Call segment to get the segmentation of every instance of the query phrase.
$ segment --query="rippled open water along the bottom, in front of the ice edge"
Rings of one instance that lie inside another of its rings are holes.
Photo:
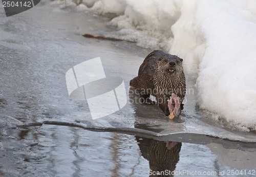
[[[222,143],[162,142],[56,125],[16,128],[1,138],[2,174],[149,176],[162,171],[169,176],[253,176],[245,173],[254,172],[255,144]]]

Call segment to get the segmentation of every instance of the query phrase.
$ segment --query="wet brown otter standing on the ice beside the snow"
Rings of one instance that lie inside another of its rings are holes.
[[[186,94],[186,79],[182,61],[183,59],[178,56],[160,50],[148,54],[140,65],[138,76],[130,81],[130,86],[139,91],[140,102],[154,104],[155,102],[150,100],[150,95],[155,96],[158,106],[163,110],[165,116],[168,116],[170,114],[168,100],[174,93],[181,100],[175,117],[179,116]],[[173,102],[175,104],[175,101]]]

